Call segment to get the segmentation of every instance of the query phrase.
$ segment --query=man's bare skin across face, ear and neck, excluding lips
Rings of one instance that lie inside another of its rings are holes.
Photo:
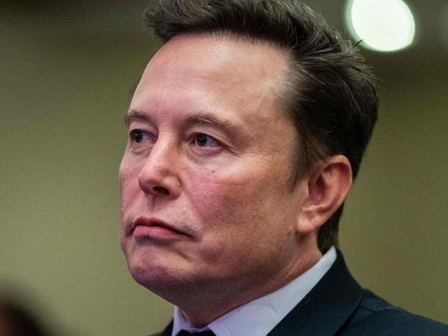
[[[121,248],[134,279],[194,326],[311,268],[318,227],[351,186],[335,156],[291,188],[297,132],[277,108],[286,68],[285,53],[262,43],[180,35],[130,103]],[[136,237],[138,217],[184,234]]]

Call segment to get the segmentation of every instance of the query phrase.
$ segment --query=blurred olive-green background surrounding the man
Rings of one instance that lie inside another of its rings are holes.
[[[391,303],[448,323],[448,1],[377,3],[386,13],[305,2],[364,39],[381,79],[342,218],[347,263]],[[146,1],[0,3],[0,300],[51,335],[160,330],[172,308],[131,279],[118,237],[124,112],[159,46],[142,23]]]

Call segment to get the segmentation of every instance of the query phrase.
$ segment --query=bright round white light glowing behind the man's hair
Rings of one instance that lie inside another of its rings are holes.
[[[395,51],[411,45],[416,24],[402,0],[351,0],[347,19],[362,46],[378,51]]]

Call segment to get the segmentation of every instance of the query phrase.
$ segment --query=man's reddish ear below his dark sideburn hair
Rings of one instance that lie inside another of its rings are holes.
[[[351,165],[344,155],[320,162],[304,179],[304,201],[298,218],[298,232],[318,230],[342,205],[352,183]]]

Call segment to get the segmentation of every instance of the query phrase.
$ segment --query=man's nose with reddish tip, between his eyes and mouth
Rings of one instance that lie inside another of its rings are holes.
[[[180,194],[178,168],[177,148],[159,137],[139,172],[139,186],[146,194],[175,199]]]

